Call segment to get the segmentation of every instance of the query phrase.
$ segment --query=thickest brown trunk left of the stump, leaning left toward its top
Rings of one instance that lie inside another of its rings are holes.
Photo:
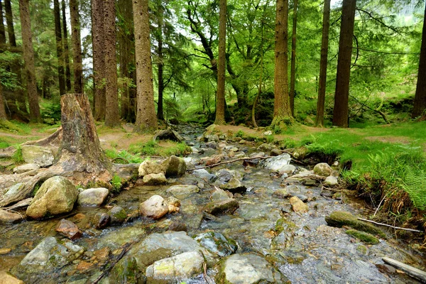
[[[37,85],[35,82],[35,65],[33,50],[33,35],[31,33],[30,6],[28,0],[19,0],[19,11],[21,16],[23,60],[25,61],[25,77],[30,104],[31,121],[39,122],[40,107],[38,105]]]

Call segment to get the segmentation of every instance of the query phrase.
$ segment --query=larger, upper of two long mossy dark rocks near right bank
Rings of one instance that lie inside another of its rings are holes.
[[[383,233],[381,229],[376,228],[376,226],[373,226],[372,224],[356,219],[356,217],[349,212],[334,211],[332,214],[325,217],[325,221],[329,226],[337,226],[339,228],[342,226],[351,226],[353,229],[365,231],[370,234],[376,234],[381,236],[383,239],[386,239],[386,234]]]

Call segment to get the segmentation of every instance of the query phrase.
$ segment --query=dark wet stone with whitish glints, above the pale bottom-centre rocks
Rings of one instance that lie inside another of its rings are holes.
[[[226,239],[224,235],[214,231],[200,234],[195,237],[195,240],[200,242],[200,245],[204,246],[209,252],[217,256],[229,256],[238,249],[233,239]]]

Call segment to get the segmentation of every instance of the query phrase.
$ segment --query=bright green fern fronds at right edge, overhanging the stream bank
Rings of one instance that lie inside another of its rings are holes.
[[[412,168],[407,167],[403,189],[410,195],[410,200],[417,209],[426,208],[426,175],[423,171],[415,172]]]

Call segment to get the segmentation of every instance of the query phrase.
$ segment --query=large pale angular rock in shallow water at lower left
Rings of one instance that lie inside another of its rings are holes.
[[[48,236],[15,267],[17,275],[52,272],[79,258],[83,252],[84,248],[71,241],[58,241],[53,236]]]

